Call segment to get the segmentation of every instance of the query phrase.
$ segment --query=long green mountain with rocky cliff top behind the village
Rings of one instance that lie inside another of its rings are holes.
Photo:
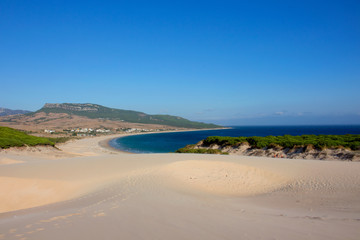
[[[219,128],[221,126],[202,122],[194,122],[171,115],[149,115],[143,112],[108,108],[91,103],[46,103],[40,110],[30,113],[67,113],[92,119],[107,119],[130,123],[160,124],[181,128]]]

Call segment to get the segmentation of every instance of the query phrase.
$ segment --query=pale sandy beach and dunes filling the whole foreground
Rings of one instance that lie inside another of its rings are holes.
[[[0,151],[0,239],[358,239],[360,163],[127,154],[85,138]]]

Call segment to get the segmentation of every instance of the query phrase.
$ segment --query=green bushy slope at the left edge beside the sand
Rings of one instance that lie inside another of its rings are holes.
[[[35,137],[19,130],[8,127],[0,127],[0,148],[22,147],[22,146],[50,145],[54,142],[48,138]]]

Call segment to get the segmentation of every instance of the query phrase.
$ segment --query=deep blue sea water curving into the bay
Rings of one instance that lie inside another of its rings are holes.
[[[168,153],[188,144],[195,144],[208,136],[282,136],[303,134],[360,134],[360,125],[336,126],[241,126],[231,129],[154,133],[133,135],[113,139],[110,145],[122,151],[132,153]]]

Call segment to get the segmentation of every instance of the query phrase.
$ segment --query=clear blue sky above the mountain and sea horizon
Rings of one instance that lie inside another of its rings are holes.
[[[359,1],[0,1],[0,107],[360,124]]]

